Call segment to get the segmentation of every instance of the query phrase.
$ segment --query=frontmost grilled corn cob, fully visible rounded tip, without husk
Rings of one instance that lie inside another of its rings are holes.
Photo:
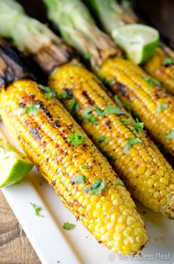
[[[47,98],[29,80],[13,82],[2,90],[0,102],[3,122],[75,217],[114,252],[140,251],[145,229],[129,192],[116,182],[119,178],[106,158],[61,103]],[[32,113],[28,111],[31,105],[35,105]],[[68,139],[74,135],[81,135],[81,144],[70,144]],[[75,182],[77,175],[85,176],[84,184]],[[84,193],[97,179],[103,186],[100,193]]]

